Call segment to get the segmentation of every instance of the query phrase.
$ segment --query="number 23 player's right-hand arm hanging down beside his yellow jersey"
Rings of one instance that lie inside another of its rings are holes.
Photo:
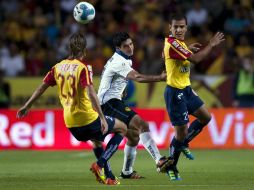
[[[108,132],[108,123],[104,117],[104,114],[101,110],[101,106],[97,97],[97,94],[94,90],[93,85],[87,86],[87,94],[92,102],[93,108],[97,111],[99,114],[100,120],[101,120],[101,132],[102,134],[106,134]]]

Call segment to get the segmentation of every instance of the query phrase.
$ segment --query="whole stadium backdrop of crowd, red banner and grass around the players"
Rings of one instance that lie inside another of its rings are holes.
[[[27,118],[17,120],[17,108],[47,70],[67,55],[68,37],[76,31],[87,35],[96,88],[113,52],[111,35],[119,30],[128,31],[134,39],[134,68],[145,74],[160,73],[167,18],[175,11],[189,18],[187,43],[205,45],[216,31],[226,34],[226,42],[191,70],[192,86],[210,108],[213,120],[191,143],[195,160],[181,156],[182,181],[173,183],[155,173],[150,155],[139,150],[135,170],[146,179],[121,180],[119,188],[253,190],[254,1],[87,1],[97,12],[85,26],[72,17],[76,0],[0,1],[0,189],[112,189],[98,184],[90,173],[95,159],[91,144],[80,144],[68,133],[55,88],[36,102]],[[165,112],[164,87],[164,83],[130,83],[127,101],[149,121],[162,155],[168,155],[174,129]],[[122,163],[120,150],[111,160],[115,175]]]

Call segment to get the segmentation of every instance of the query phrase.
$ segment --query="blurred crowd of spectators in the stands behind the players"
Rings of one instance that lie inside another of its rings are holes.
[[[87,0],[88,1],[88,0]],[[202,63],[193,75],[232,75],[251,72],[254,89],[253,0],[90,0],[95,20],[75,22],[77,0],[1,0],[0,68],[7,77],[44,75],[67,56],[69,36],[83,32],[88,41],[88,62],[99,75],[111,56],[111,36],[128,31],[134,39],[134,68],[146,74],[161,72],[164,38],[169,35],[172,12],[186,14],[188,43],[206,45],[216,31],[226,42]]]

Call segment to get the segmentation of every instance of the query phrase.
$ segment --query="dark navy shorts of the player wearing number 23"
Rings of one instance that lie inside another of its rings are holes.
[[[106,121],[108,123],[108,132],[103,135],[101,132],[101,120],[98,117],[94,122],[82,126],[82,127],[72,127],[69,128],[71,134],[78,140],[78,141],[88,141],[88,140],[97,140],[97,141],[104,141],[105,137],[112,133],[112,130],[115,125],[115,118],[110,116],[105,116]]]

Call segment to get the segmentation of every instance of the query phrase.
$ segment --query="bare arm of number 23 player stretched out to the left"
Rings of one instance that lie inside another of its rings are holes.
[[[42,83],[32,94],[32,96],[29,98],[29,100],[25,103],[23,107],[21,107],[17,112],[17,118],[25,117],[33,105],[33,103],[47,90],[49,87],[48,84]]]

